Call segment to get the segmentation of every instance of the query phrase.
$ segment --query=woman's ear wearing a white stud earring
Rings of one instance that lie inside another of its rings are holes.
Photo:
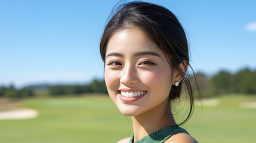
[[[184,75],[185,75],[188,66],[189,66],[189,63],[187,63],[186,60],[183,60],[178,67],[180,68],[181,72],[183,72]],[[180,83],[181,80],[183,79],[184,75],[182,75],[180,73],[180,71],[178,69],[176,69],[174,71],[174,78],[172,80],[172,85],[175,85],[175,82],[179,82]]]

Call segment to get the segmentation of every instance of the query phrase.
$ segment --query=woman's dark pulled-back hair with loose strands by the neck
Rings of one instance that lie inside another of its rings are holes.
[[[107,23],[101,37],[102,60],[105,62],[107,43],[116,32],[131,27],[141,29],[164,52],[169,66],[178,70],[183,76],[179,86],[172,86],[168,98],[169,102],[180,98],[183,82],[185,83],[190,97],[190,111],[186,119],[180,123],[182,125],[192,115],[194,107],[194,94],[189,81],[189,73],[184,73],[179,67],[182,63],[186,69],[186,63],[189,64],[189,48],[183,27],[171,11],[160,5],[135,1],[120,5],[118,9],[118,12]]]

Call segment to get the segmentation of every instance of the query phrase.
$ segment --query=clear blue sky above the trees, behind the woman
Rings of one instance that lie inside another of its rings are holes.
[[[0,85],[103,78],[99,43],[118,1],[0,0]],[[208,75],[256,69],[256,1],[147,1],[171,10]]]

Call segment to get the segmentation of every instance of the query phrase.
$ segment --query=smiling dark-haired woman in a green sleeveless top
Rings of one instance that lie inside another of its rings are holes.
[[[132,117],[134,134],[119,142],[197,142],[172,116],[170,102],[185,83],[189,119],[193,91],[186,34],[171,11],[147,2],[121,5],[104,29],[100,53],[110,98]]]

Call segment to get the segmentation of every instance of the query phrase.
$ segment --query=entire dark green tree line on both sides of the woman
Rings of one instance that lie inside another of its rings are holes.
[[[214,76],[208,77],[203,73],[196,73],[190,78],[192,89],[197,91],[196,81],[201,91],[202,97],[209,97],[224,94],[251,94],[256,95],[256,70],[242,69],[235,74],[221,70]],[[86,85],[32,85],[25,88],[16,89],[13,85],[0,87],[0,97],[8,98],[28,98],[34,97],[35,91],[44,87],[51,96],[76,95],[84,93],[104,93],[107,88],[104,80],[92,80]]]

